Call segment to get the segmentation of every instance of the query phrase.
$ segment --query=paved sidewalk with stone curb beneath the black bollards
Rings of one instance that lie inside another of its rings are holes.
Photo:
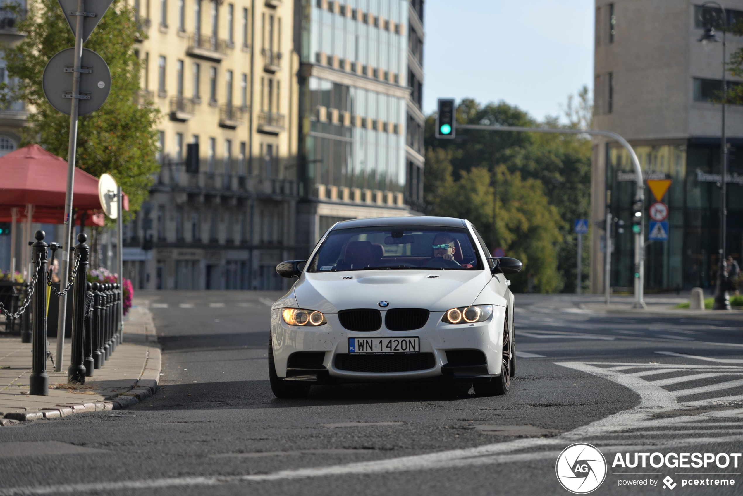
[[[79,389],[68,388],[67,367],[70,363],[70,340],[65,340],[62,372],[55,373],[47,361],[49,396],[30,396],[31,344],[17,336],[0,337],[0,425],[22,420],[53,419],[71,413],[94,410],[116,410],[134,405],[151,396],[160,379],[160,347],[157,344],[152,314],[146,300],[134,300],[124,322],[124,342],[85,379]],[[56,341],[49,350],[55,352]]]

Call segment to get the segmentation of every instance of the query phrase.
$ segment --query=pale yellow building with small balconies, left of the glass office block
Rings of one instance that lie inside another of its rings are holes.
[[[134,0],[142,103],[162,169],[126,226],[135,288],[279,289],[293,257],[296,72],[291,0]],[[150,249],[151,248],[151,249]]]

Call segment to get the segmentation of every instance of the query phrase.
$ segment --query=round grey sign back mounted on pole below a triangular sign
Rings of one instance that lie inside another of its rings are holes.
[[[51,106],[70,115],[72,94],[72,75],[74,74],[74,48],[65,48],[49,59],[42,87],[44,96]],[[88,48],[82,49],[80,57],[80,90],[77,99],[80,101],[78,115],[86,115],[100,109],[111,91],[111,71],[100,55]]]

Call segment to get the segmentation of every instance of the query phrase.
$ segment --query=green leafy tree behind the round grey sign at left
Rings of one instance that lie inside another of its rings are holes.
[[[10,77],[19,79],[7,97],[24,100],[31,109],[23,129],[23,143],[38,143],[67,158],[70,117],[47,102],[42,73],[48,60],[65,48],[74,47],[74,37],[56,0],[29,3],[19,30],[27,36],[19,45],[5,48]],[[134,22],[134,11],[122,0],[114,0],[85,48],[96,51],[111,70],[111,94],[96,112],[80,117],[77,131],[77,167],[98,177],[110,173],[129,196],[129,214],[139,210],[148,195],[155,160],[159,111],[140,107],[140,62],[134,53],[135,36],[142,37]]]

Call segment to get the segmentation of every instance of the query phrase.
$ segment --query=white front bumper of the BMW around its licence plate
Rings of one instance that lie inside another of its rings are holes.
[[[502,338],[505,307],[493,306],[493,315],[484,322],[442,323],[444,312],[431,312],[426,325],[415,331],[390,331],[382,325],[374,332],[354,332],[340,325],[337,314],[325,314],[328,323],[322,326],[290,326],[281,316],[281,309],[271,310],[271,339],[276,375],[280,378],[305,381],[369,382],[411,381],[420,379],[487,379],[501,371]],[[384,321],[385,311],[382,311]],[[351,372],[336,367],[336,356],[348,354],[348,338],[420,338],[420,352],[432,353],[433,366],[410,372]],[[487,365],[462,367],[450,364],[447,350],[480,350]],[[322,352],[322,366],[288,368],[294,352]]]

